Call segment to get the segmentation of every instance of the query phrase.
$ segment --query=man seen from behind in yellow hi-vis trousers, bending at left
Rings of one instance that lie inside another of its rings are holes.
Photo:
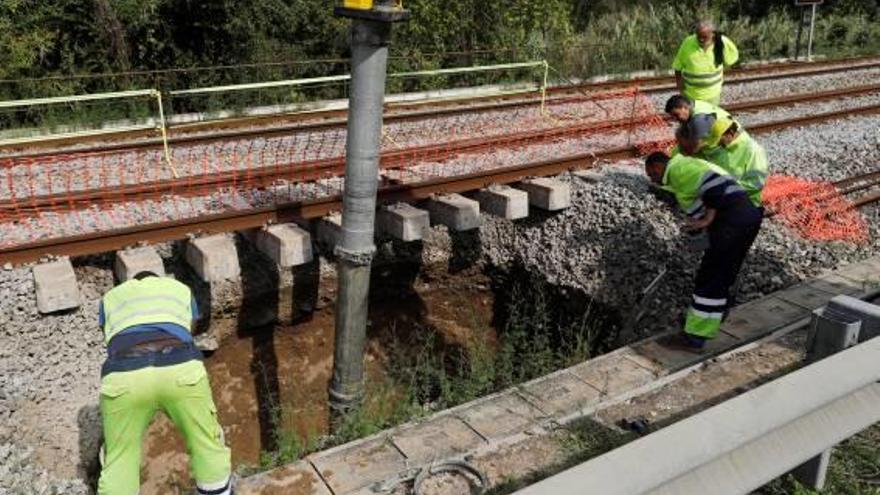
[[[138,273],[101,300],[109,356],[101,369],[99,495],[138,493],[141,443],[160,410],[183,434],[198,493],[233,493],[230,451],[191,335],[196,319],[189,287],[152,272]]]

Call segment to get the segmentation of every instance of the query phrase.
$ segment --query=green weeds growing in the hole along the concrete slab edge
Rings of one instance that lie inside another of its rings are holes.
[[[262,455],[261,467],[291,462],[303,455],[362,438],[383,429],[503,390],[589,359],[614,337],[609,315],[570,297],[534,276],[515,272],[501,278],[504,311],[496,332],[471,312],[470,333],[453,341],[432,327],[394,334],[388,350],[388,375],[368,382],[364,402],[331,437],[287,430],[283,404],[270,405],[277,450]],[[509,284],[509,285],[508,285]],[[393,363],[393,365],[391,364]]]

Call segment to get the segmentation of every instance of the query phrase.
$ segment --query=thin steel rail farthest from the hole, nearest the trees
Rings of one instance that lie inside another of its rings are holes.
[[[864,62],[864,63],[859,63]],[[791,70],[792,68],[804,68],[807,70]],[[764,66],[756,66],[738,69],[732,71],[729,74],[729,79],[726,84],[741,84],[748,82],[756,82],[756,81],[764,81],[769,79],[778,79],[785,77],[803,77],[803,76],[814,76],[814,75],[822,75],[834,72],[845,72],[849,70],[864,70],[870,68],[880,67],[880,60],[877,57],[860,57],[853,59],[843,59],[843,60],[835,60],[835,61],[823,61],[823,62],[810,62],[810,63],[781,63],[781,64],[769,64]],[[753,75],[754,74],[754,75]],[[639,86],[645,92],[661,92],[670,89],[675,89],[673,78],[670,76],[653,76],[653,77],[645,77],[645,78],[636,78],[636,79],[621,79],[621,80],[612,80],[612,81],[603,81],[603,82],[594,82],[594,83],[584,83],[573,86],[557,86],[551,87],[547,89],[548,95],[571,95],[571,94],[583,94],[585,92],[601,92],[608,91],[614,89],[623,89],[630,88],[633,86]],[[469,98],[467,100],[460,100],[458,102],[400,102],[400,103],[388,103],[386,104],[386,112],[389,114],[386,115],[386,122],[392,122],[395,120],[405,121],[408,119],[416,119],[422,118],[429,115],[443,115],[443,114],[465,114],[472,112],[483,112],[483,111],[491,111],[491,110],[502,110],[505,108],[511,107],[519,107],[519,106],[531,106],[531,105],[539,105],[540,101],[536,101],[534,97],[529,97],[523,99],[523,95],[531,94],[534,91],[528,93],[514,93],[514,94],[506,94],[506,95],[491,95],[491,96],[481,96]],[[490,101],[494,103],[482,104],[482,105],[474,105],[468,103],[479,103]],[[462,103],[465,106],[461,106]],[[445,106],[446,108],[436,108],[438,105]],[[452,106],[456,105],[456,106]],[[450,108],[451,107],[451,108]],[[401,112],[401,113],[393,113],[395,110],[403,110],[407,108],[415,108],[417,111],[410,112]],[[230,138],[239,138],[239,137],[267,137],[272,135],[285,134],[287,132],[291,132],[294,130],[299,130],[300,128],[307,128],[310,123],[314,123],[315,120],[318,119],[331,119],[335,120],[332,124],[337,126],[344,126],[345,117],[347,115],[346,109],[336,109],[336,110],[324,110],[324,111],[316,111],[316,112],[300,112],[293,114],[276,114],[276,115],[267,115],[267,116],[255,116],[255,117],[237,117],[232,119],[223,119],[218,121],[207,121],[207,122],[197,122],[197,123],[187,123],[187,124],[179,124],[179,125],[171,125],[169,126],[169,135],[171,138],[169,139],[169,143],[195,143],[195,142],[211,142],[214,140],[224,140]],[[312,121],[312,122],[310,122]],[[246,129],[239,130],[237,132],[226,132],[226,133],[214,133],[209,136],[173,136],[175,133],[196,133],[200,131],[210,131],[217,129],[229,129],[229,128],[238,128],[242,126],[257,126],[260,124],[267,123],[277,123],[277,122],[291,122],[293,125],[285,125],[285,126],[276,126],[272,129]],[[299,123],[299,125],[297,125]],[[303,125],[305,124],[305,125]],[[179,130],[179,131],[178,131]],[[106,137],[116,137],[118,139],[124,137],[144,137],[149,136],[151,133],[145,131],[123,131],[119,134],[104,134],[102,138]],[[216,136],[216,137],[214,137]],[[78,138],[59,138],[58,140],[46,140],[42,144],[45,144],[45,147],[51,146],[63,146],[63,145],[71,145],[71,144],[79,144],[86,142],[86,139],[78,139]],[[40,148],[43,146],[37,146],[40,143],[28,143],[31,149]],[[89,151],[89,152],[102,152],[102,151],[119,151],[119,150],[127,150],[127,149],[142,149],[142,148],[152,148],[158,147],[161,145],[161,141],[157,139],[148,139],[134,143],[118,143],[113,145],[105,145],[105,146],[96,146],[87,149],[80,149],[78,151]],[[0,151],[3,149],[20,149],[20,148],[11,148],[11,147],[2,147],[0,146]],[[57,153],[57,152],[56,152]],[[43,153],[34,153],[22,156],[41,156],[45,154],[54,154],[53,152],[43,152]]]

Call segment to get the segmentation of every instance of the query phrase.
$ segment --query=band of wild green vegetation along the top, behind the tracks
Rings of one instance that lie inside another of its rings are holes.
[[[664,69],[701,17],[719,21],[743,61],[792,56],[800,10],[790,0],[407,0],[390,71],[547,58],[557,74]],[[816,51],[880,52],[877,0],[829,0]],[[318,0],[0,0],[0,98],[173,89],[349,71],[347,21]],[[392,80],[389,90],[537,81],[536,71]],[[179,97],[169,113],[237,110],[345,97],[345,84]],[[0,125],[97,125],[155,116],[147,101],[55,106]]]

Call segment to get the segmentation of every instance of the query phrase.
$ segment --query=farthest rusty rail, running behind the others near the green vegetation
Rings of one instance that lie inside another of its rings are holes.
[[[878,67],[880,67],[880,59],[876,57],[860,57],[810,63],[789,62],[768,64],[731,71],[725,84],[735,85],[788,77],[817,76]],[[571,97],[573,95],[620,90],[631,88],[633,86],[638,86],[646,93],[657,93],[675,89],[675,81],[671,76],[611,80],[553,87],[548,89],[547,94],[551,101],[555,101],[558,98]],[[856,88],[852,88],[852,90],[855,91]],[[453,102],[402,102],[397,104],[386,104],[385,121],[386,123],[407,122],[416,119],[423,119],[425,117],[462,115],[538,105],[541,105],[541,99],[537,98],[533,91],[529,93],[471,97]],[[735,109],[734,107],[735,105],[732,105],[731,109]],[[346,125],[346,115],[347,110],[337,109],[180,124],[169,127],[169,144],[210,143],[249,137],[272,137],[298,131],[342,128]],[[279,125],[279,123],[283,124]],[[270,125],[271,127],[266,127]],[[210,134],[206,135],[205,133]],[[107,145],[79,147],[75,151],[100,153],[160,148],[163,145],[161,139],[140,139],[152,135],[155,135],[154,131],[140,130],[121,131],[119,133],[105,134],[102,136],[59,138],[55,140],[30,143],[18,148],[0,147],[0,153],[7,152],[7,156],[39,157],[57,153],[57,148],[59,146],[79,145],[107,139],[119,142]],[[130,141],[126,142],[125,140],[127,139]],[[41,149],[45,151],[15,152],[16,150]]]

